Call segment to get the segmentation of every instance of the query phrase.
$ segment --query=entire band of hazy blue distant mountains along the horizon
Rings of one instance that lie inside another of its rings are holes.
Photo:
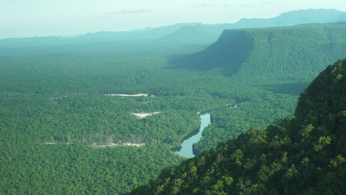
[[[244,18],[234,24],[225,23],[210,25],[201,23],[181,23],[170,26],[144,28],[132,31],[100,31],[69,38],[60,36],[6,38],[5,40],[0,40],[0,47],[151,40],[156,38],[159,38],[159,41],[165,42],[207,45],[217,41],[217,38],[224,29],[291,26],[305,23],[328,23],[340,21],[346,21],[346,12],[333,9],[309,9],[291,11],[268,19]]]

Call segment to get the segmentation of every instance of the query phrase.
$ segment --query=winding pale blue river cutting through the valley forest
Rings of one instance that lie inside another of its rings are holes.
[[[181,145],[181,149],[179,151],[176,151],[176,153],[181,155],[182,157],[193,158],[195,156],[192,152],[192,144],[197,143],[201,139],[204,128],[206,128],[211,123],[210,113],[202,113],[200,114],[200,118],[201,126],[199,128],[198,133],[184,140]]]

